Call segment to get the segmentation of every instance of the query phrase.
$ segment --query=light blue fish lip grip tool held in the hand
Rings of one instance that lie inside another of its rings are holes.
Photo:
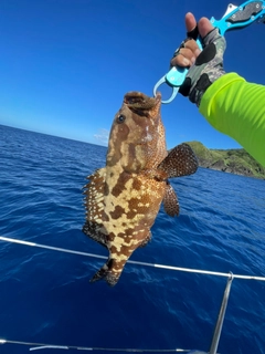
[[[245,28],[254,22],[265,23],[265,0],[254,1],[248,0],[236,7],[232,3],[229,4],[227,10],[221,20],[211,18],[210,20],[213,27],[218,28],[221,35],[224,35],[226,31],[237,30]],[[197,43],[202,49],[202,42],[200,37],[197,39]],[[172,87],[172,95],[169,100],[162,101],[162,103],[170,103],[177,96],[180,86],[182,85],[189,69],[173,66],[166,75],[163,75],[153,87],[153,96],[156,96],[158,87],[163,83]]]

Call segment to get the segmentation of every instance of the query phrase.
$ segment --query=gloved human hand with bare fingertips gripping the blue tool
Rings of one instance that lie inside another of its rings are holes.
[[[206,88],[225,72],[223,70],[223,53],[225,39],[220,35],[206,18],[198,23],[198,32],[201,38],[201,51],[197,42],[189,38],[197,28],[197,21],[192,13],[186,15],[188,39],[183,41],[171,60],[171,66],[190,66],[188,75],[179,92],[189,96],[198,106]]]

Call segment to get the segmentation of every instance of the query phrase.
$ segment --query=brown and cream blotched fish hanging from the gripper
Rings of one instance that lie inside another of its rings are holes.
[[[126,261],[151,238],[161,202],[170,216],[179,204],[168,178],[193,174],[197,158],[187,144],[167,152],[161,95],[129,92],[115,115],[106,167],[88,176],[83,231],[106,247],[109,258],[91,281],[115,285]]]

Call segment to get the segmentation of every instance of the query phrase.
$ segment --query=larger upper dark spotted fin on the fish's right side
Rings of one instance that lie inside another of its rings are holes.
[[[168,178],[189,176],[197,171],[198,159],[192,148],[188,144],[176,146],[158,166],[158,170],[163,170]]]

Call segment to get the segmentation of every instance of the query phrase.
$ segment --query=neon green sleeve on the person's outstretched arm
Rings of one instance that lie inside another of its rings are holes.
[[[199,111],[265,166],[265,86],[225,74],[206,90]]]

